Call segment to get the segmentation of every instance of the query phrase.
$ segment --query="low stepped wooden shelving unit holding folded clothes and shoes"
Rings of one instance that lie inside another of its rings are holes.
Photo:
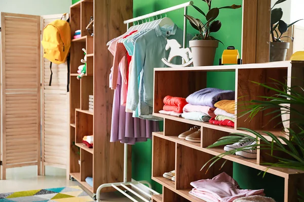
[[[193,188],[190,183],[200,179],[210,179],[222,172],[232,176],[233,162],[266,171],[280,176],[285,180],[284,201],[296,201],[297,190],[304,191],[304,171],[286,168],[268,168],[262,164],[274,161],[257,150],[257,159],[246,159],[240,156],[229,155],[215,163],[206,173],[206,168],[201,167],[214,156],[224,153],[223,146],[206,148],[218,138],[234,132],[250,133],[238,130],[238,128],[250,128],[256,131],[271,131],[277,136],[288,137],[283,132],[283,126],[276,124],[280,117],[274,122],[269,122],[272,116],[266,116],[268,112],[258,114],[252,121],[245,121],[245,117],[239,117],[235,122],[235,128],[212,125],[209,123],[186,120],[169,115],[159,114],[163,108],[163,99],[166,95],[187,97],[189,94],[206,87],[207,72],[231,71],[236,74],[236,102],[246,102],[258,99],[258,96],[273,95],[272,91],[265,91],[262,87],[250,81],[267,83],[270,78],[285,82],[288,86],[304,86],[304,63],[303,62],[279,62],[269,64],[249,64],[212,67],[189,67],[189,68],[157,68],[154,73],[154,115],[164,118],[164,132],[153,133],[153,163],[152,179],[163,185],[163,194],[154,201],[192,201],[203,202],[188,192]],[[233,82],[233,81],[232,81]],[[236,114],[240,113],[242,106],[238,106]],[[302,113],[304,109],[299,109]],[[290,116],[294,116],[290,114]],[[201,127],[201,142],[189,142],[178,138],[178,135],[190,127]],[[261,133],[263,134],[263,133]],[[264,134],[268,140],[271,138]],[[224,167],[219,170],[222,163]],[[175,170],[175,181],[163,177],[164,172]],[[275,185],[274,185],[275,186]],[[246,188],[246,187],[242,187]]]

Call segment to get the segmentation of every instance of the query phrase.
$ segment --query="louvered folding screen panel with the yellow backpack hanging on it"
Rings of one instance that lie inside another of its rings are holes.
[[[60,19],[62,15],[43,16],[43,27]],[[67,168],[69,162],[68,141],[68,94],[67,65],[52,64],[52,85],[50,81],[50,61],[43,58],[43,97],[42,97],[42,174],[45,166]],[[67,169],[68,170],[68,169]],[[69,175],[69,173],[68,173]]]

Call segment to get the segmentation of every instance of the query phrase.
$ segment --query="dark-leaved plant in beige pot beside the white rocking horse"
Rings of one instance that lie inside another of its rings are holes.
[[[208,5],[208,12],[205,13],[197,6],[192,5],[198,12],[204,16],[205,24],[197,18],[189,15],[185,17],[189,20],[191,26],[199,31],[195,37],[189,41],[189,46],[192,49],[194,66],[211,66],[214,62],[215,51],[220,40],[214,38],[210,34],[217,32],[221,28],[221,22],[215,20],[219,14],[220,9],[238,9],[241,5],[225,6],[220,8],[212,8],[212,0],[202,0]],[[221,42],[222,43],[222,42]]]

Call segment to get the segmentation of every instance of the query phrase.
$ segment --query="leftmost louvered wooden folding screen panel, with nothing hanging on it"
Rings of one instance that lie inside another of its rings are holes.
[[[40,175],[40,16],[1,14],[3,179],[37,165]]]

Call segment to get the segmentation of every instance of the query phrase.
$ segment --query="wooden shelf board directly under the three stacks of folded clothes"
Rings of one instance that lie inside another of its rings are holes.
[[[178,121],[178,122],[183,122],[183,123],[187,123],[187,124],[197,125],[197,126],[201,126],[201,127],[205,127],[205,128],[211,128],[211,129],[214,129],[214,130],[220,130],[220,131],[229,132],[229,133],[244,133],[244,134],[250,135],[252,137],[255,137],[252,133],[247,132],[247,131],[237,130],[237,129],[234,129],[232,127],[227,127],[227,126],[218,126],[218,125],[211,124],[209,122],[193,121],[193,120],[189,120],[189,119],[184,119],[182,117],[175,117],[175,116],[170,116],[170,115],[165,115],[165,114],[160,114],[160,113],[153,113],[153,115],[157,116],[157,117],[164,118],[164,119],[170,119],[170,120],[173,120],[173,121]],[[260,134],[263,135],[262,130],[255,130],[255,131],[259,132]],[[274,130],[274,131],[269,131],[269,132],[273,133],[275,136],[283,136],[283,137],[287,138],[286,133],[282,132],[281,130]],[[272,141],[272,138],[270,136],[268,136],[268,135],[263,135],[263,136],[267,140]],[[280,139],[280,141],[283,144],[286,144],[283,140]]]

